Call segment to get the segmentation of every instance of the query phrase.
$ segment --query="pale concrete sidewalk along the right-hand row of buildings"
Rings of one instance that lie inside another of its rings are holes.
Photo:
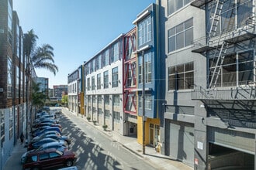
[[[77,114],[74,114],[70,111],[68,112],[73,114],[73,116],[78,117]],[[140,145],[137,142],[137,138],[123,136],[116,133],[115,131],[104,131],[102,126],[94,125],[93,122],[88,122],[85,117],[81,119],[84,120],[86,124],[90,124],[94,128],[97,128],[99,131],[101,131],[103,134],[108,135],[109,138],[112,138],[113,141],[119,142],[119,144],[123,145],[124,148],[128,149],[133,154],[140,156],[140,158],[144,158],[150,165],[152,165],[157,170],[192,170],[193,169],[188,165],[183,164],[182,162],[178,162],[178,161],[172,160],[168,156],[161,155],[160,153],[155,151],[153,147],[146,146],[145,155],[143,155],[142,145]]]

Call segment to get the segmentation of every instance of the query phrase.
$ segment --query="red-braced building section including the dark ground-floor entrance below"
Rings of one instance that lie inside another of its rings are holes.
[[[137,134],[137,29],[123,38],[123,113],[126,135]]]

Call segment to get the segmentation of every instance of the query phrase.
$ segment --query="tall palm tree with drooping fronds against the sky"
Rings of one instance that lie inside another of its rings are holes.
[[[26,63],[26,109],[29,108],[29,96],[33,97],[31,80],[33,70],[47,69],[56,75],[58,68],[54,64],[54,48],[49,44],[44,44],[41,47],[36,47],[36,40],[38,36],[34,33],[33,29],[29,30],[23,36],[23,52],[25,55]],[[32,113],[32,104],[30,102],[30,114]],[[28,113],[28,112],[27,112]],[[28,114],[26,114],[26,120],[29,121]],[[31,120],[30,120],[31,121]],[[26,138],[28,138],[28,127],[26,126]]]

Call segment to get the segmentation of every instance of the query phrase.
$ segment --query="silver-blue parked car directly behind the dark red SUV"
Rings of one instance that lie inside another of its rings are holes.
[[[46,144],[43,144],[42,146],[40,146],[39,148],[37,149],[33,149],[31,151],[26,151],[22,157],[21,157],[21,163],[24,164],[25,163],[25,158],[26,158],[26,155],[28,155],[29,153],[33,152],[33,151],[43,151],[43,150],[47,150],[47,149],[50,149],[50,148],[56,148],[58,151],[67,151],[68,148],[67,146],[65,145],[62,145],[60,142],[50,142],[50,143],[46,143]]]

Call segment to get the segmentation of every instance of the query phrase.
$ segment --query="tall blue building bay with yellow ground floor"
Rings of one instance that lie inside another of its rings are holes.
[[[157,5],[137,15],[137,138],[140,144],[157,145],[164,103],[164,56],[159,55]],[[162,82],[161,82],[162,81]],[[144,121],[144,122],[143,122]]]

